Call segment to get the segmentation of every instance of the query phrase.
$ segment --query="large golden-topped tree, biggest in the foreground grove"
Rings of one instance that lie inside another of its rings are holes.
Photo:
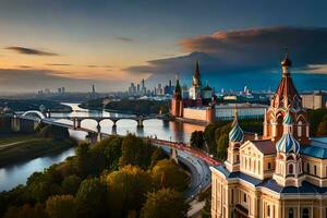
[[[109,186],[110,215],[126,217],[130,210],[140,210],[145,194],[150,191],[150,177],[135,166],[125,166],[105,177]]]

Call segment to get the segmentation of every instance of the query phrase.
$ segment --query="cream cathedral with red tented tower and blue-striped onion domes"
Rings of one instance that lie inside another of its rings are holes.
[[[225,165],[211,167],[211,217],[326,218],[327,144],[310,137],[288,55],[262,136],[249,136],[235,110]]]

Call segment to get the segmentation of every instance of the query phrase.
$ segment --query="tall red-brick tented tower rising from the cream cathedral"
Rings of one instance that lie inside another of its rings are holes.
[[[306,110],[302,107],[302,98],[291,77],[291,66],[292,62],[287,53],[283,61],[281,61],[281,81],[265,114],[263,137],[270,138],[275,143],[279,141],[283,135],[283,118],[289,112],[294,121],[293,137],[301,144],[307,144],[310,124],[307,122]]]

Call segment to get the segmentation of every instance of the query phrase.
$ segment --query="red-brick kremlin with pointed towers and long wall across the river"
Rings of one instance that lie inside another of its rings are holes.
[[[215,90],[206,84],[202,85],[198,62],[192,78],[192,86],[189,89],[187,98],[183,98],[179,80],[171,99],[170,113],[175,119],[211,123],[219,120],[232,120],[233,109],[239,109],[240,119],[264,118],[268,106],[259,104],[217,104]]]

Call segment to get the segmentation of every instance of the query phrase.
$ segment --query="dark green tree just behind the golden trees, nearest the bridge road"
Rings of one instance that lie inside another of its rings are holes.
[[[142,138],[128,134],[122,142],[122,156],[120,166],[140,166],[146,169],[150,165],[152,147]]]

